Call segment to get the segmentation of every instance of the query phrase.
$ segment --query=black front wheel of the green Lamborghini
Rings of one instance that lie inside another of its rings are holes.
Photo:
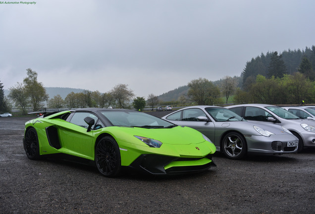
[[[106,177],[119,175],[121,168],[120,152],[112,137],[103,137],[95,148],[95,163]]]

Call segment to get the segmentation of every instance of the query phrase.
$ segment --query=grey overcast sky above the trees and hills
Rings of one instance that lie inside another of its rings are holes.
[[[35,2],[0,4],[4,89],[31,68],[45,87],[127,84],[147,98],[200,77],[240,76],[261,53],[315,45],[315,0]]]

